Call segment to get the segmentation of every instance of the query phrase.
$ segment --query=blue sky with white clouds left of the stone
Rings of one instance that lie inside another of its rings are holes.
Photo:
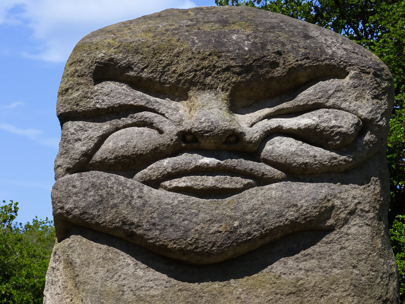
[[[214,0],[0,0],[0,202],[18,222],[52,218],[60,125],[56,97],[74,45],[98,28]]]

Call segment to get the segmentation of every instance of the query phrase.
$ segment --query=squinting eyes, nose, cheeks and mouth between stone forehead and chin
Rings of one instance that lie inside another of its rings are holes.
[[[238,108],[221,91],[195,90],[176,101],[102,82],[94,88],[100,102],[125,96],[134,104],[87,122],[87,130],[111,126],[98,131],[104,138],[88,168],[202,198],[229,197],[289,175],[343,171],[374,150],[361,147],[363,123],[351,108],[323,102],[343,83],[321,79]]]

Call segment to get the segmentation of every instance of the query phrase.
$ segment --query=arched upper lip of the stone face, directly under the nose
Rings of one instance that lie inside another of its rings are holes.
[[[234,153],[183,153],[179,156],[159,160],[138,172],[134,179],[147,184],[155,184],[178,175],[201,172],[228,172],[254,177],[264,183],[281,181],[286,177],[281,172],[264,163],[238,157]]]

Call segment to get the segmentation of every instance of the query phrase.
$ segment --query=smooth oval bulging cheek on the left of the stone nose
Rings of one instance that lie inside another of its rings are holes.
[[[144,127],[130,127],[111,134],[100,146],[89,166],[92,169],[124,170],[137,168],[167,153],[171,141],[165,133]]]

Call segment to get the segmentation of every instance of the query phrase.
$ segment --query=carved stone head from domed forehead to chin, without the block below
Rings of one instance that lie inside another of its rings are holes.
[[[344,224],[385,148],[389,73],[333,32],[235,10],[210,23],[216,10],[76,46],[58,99],[59,238],[70,223],[211,263]]]

